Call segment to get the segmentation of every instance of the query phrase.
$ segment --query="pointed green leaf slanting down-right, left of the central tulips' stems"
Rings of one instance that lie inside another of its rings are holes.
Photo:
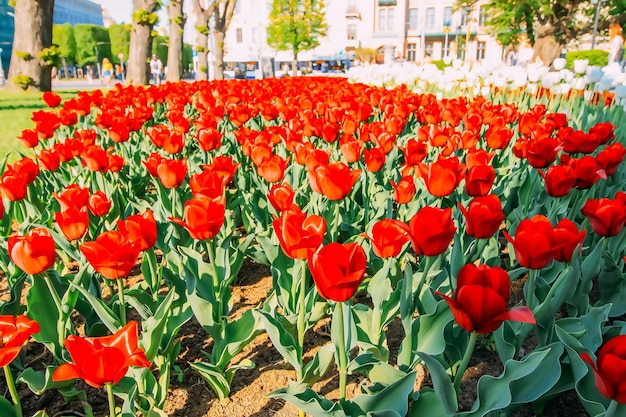
[[[298,371],[302,366],[302,346],[298,346],[296,342],[296,337],[293,334],[295,328],[285,326],[286,320],[276,311],[270,313],[255,309],[254,314],[260,317],[263,322],[263,327],[278,353],[280,353],[283,359],[289,362],[293,369]]]

